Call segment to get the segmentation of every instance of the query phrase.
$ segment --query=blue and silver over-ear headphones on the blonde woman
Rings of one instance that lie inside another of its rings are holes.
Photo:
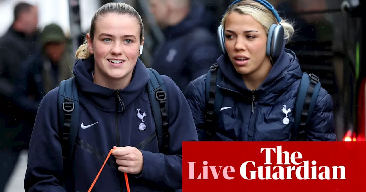
[[[242,0],[234,1],[234,3],[229,5],[229,7],[231,7],[232,5],[234,5],[240,1],[242,1]],[[282,47],[284,44],[284,29],[283,29],[283,26],[281,25],[281,18],[278,15],[275,8],[273,7],[273,5],[270,4],[268,1],[266,1],[266,0],[254,0],[254,1],[257,1],[258,3],[264,5],[266,8],[268,8],[268,10],[272,11],[273,15],[275,15],[275,17],[277,19],[278,23],[277,24],[273,23],[270,26],[269,31],[268,31],[266,54],[271,57],[278,57],[278,56],[280,56],[280,53],[282,51]],[[225,14],[226,14],[226,12],[225,12]],[[224,27],[222,25],[220,25],[219,28],[217,29],[217,38],[219,41],[219,46],[220,46],[221,51],[224,54],[227,54],[226,48],[225,48],[225,32],[224,32]]]

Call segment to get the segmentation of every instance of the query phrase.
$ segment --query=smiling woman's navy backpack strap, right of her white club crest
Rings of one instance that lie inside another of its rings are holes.
[[[150,75],[150,80],[147,83],[147,93],[149,95],[151,108],[153,111],[156,136],[159,144],[159,151],[167,155],[169,153],[169,125],[168,115],[165,109],[167,98],[167,87],[160,74],[155,69],[147,68]]]

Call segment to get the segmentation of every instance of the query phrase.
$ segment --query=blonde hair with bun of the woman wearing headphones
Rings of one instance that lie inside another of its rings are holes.
[[[231,7],[228,8],[225,13],[223,19],[221,20],[221,25],[225,28],[225,21],[228,15],[232,12],[237,12],[239,14],[251,15],[255,20],[262,24],[267,35],[269,31],[269,27],[273,23],[278,23],[273,12],[268,10],[264,5],[258,3],[254,0],[242,0]],[[288,20],[281,18],[281,25],[284,29],[284,39],[288,41],[291,40],[292,36],[295,33],[294,26]]]

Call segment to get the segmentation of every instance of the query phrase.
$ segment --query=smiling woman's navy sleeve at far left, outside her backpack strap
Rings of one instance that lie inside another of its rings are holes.
[[[58,87],[47,93],[37,112],[24,180],[26,192],[66,192],[60,186],[63,161],[57,134],[57,94]]]

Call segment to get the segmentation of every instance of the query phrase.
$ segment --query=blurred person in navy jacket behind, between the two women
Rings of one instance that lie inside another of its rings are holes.
[[[150,10],[165,35],[152,68],[172,78],[184,91],[221,55],[213,31],[214,16],[190,0],[150,0]]]

